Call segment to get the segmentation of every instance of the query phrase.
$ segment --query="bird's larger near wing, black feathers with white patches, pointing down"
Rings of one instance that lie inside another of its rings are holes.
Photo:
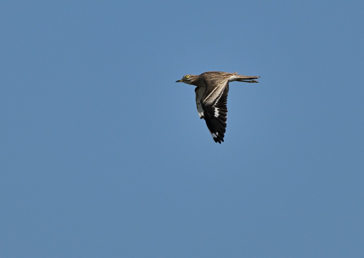
[[[207,128],[215,142],[221,144],[226,132],[227,93],[229,92],[229,79],[205,80],[206,90],[201,97],[201,108]],[[197,96],[197,94],[196,94]],[[198,105],[197,105],[198,109]]]

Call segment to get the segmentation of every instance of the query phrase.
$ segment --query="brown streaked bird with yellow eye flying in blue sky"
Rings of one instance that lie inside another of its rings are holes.
[[[196,86],[196,106],[200,119],[205,119],[207,129],[215,142],[221,144],[226,132],[227,93],[229,82],[258,82],[260,76],[246,76],[219,71],[205,72],[200,75],[186,74],[181,80]]]

